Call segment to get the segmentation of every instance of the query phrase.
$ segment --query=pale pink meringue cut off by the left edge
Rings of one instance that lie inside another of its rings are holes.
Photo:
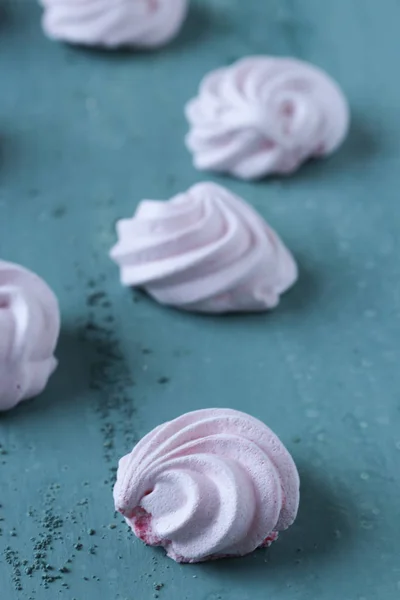
[[[0,410],[33,398],[57,366],[57,298],[37,275],[0,261]]]

